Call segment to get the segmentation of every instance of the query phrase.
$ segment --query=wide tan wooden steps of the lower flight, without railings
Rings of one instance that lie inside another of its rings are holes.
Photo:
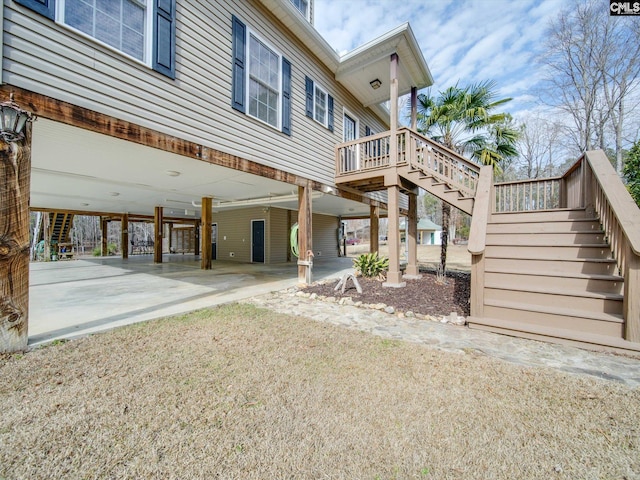
[[[468,322],[528,338],[629,348],[621,340],[623,292],[600,221],[584,208],[496,213],[487,225],[483,315]]]

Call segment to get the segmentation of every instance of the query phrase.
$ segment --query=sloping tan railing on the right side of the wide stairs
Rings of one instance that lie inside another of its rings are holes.
[[[602,150],[584,154],[579,175],[582,205],[599,217],[624,277],[625,339],[640,342],[640,209]]]

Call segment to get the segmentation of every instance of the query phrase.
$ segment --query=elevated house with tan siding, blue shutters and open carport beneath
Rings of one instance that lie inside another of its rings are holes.
[[[169,225],[191,232],[180,244],[203,268],[294,260],[296,222],[301,251],[338,256],[340,218],[386,205],[336,186],[336,146],[389,129],[392,55],[400,94],[432,83],[409,24],[341,57],[313,0],[9,0],[3,13],[2,93],[38,116],[32,210],[122,221],[123,237],[155,221],[157,262]]]

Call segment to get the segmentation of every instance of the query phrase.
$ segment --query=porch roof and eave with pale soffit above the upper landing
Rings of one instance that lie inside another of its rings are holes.
[[[399,95],[410,93],[412,86],[421,89],[433,84],[429,66],[409,23],[340,56],[290,0],[259,1],[335,74],[336,80],[364,107],[377,109],[379,104],[389,100],[389,64],[393,53],[399,59]],[[370,82],[375,79],[382,82],[380,88],[371,87]]]

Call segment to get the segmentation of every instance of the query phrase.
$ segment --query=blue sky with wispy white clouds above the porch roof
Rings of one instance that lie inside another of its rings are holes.
[[[495,80],[505,109],[536,109],[537,56],[548,22],[569,0],[315,0],[315,27],[346,53],[405,22],[422,47],[433,89]],[[608,15],[608,11],[603,11]]]

